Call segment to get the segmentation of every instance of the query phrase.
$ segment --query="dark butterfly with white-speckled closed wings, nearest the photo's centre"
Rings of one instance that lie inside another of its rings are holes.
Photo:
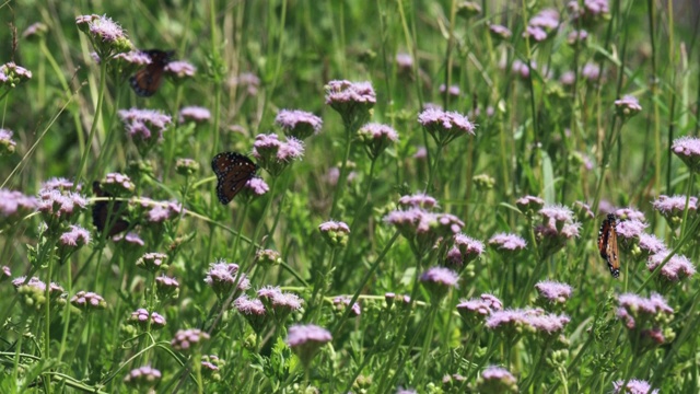
[[[245,154],[222,152],[212,159],[211,169],[217,175],[217,197],[226,205],[255,176],[258,166]]]

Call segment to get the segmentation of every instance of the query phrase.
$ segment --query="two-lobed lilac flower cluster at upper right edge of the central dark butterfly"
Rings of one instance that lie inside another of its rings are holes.
[[[253,143],[253,157],[258,165],[272,176],[278,176],[292,161],[304,155],[304,144],[295,138],[280,141],[277,135],[257,135]]]

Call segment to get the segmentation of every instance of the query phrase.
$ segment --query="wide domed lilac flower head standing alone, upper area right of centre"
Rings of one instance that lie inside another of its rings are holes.
[[[464,135],[474,136],[476,130],[476,125],[469,121],[466,116],[442,109],[428,108],[423,111],[418,115],[418,123],[440,147],[444,147]]]

